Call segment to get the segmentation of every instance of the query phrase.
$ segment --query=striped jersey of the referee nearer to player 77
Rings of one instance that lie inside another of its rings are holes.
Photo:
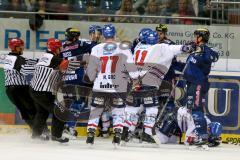
[[[35,65],[30,86],[35,91],[52,92],[53,85],[58,78],[58,70],[55,70],[62,59],[52,53],[44,53]]]

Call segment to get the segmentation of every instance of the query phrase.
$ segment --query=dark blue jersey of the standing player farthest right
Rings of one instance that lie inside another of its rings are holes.
[[[218,59],[218,53],[207,45],[199,47],[201,48],[200,52],[195,52],[187,58],[187,66],[183,76],[190,83],[208,86],[211,65]]]

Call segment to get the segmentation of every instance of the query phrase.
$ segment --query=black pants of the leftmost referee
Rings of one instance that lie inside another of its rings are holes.
[[[31,98],[28,85],[6,86],[6,94],[17,107],[21,117],[32,128],[36,107]]]

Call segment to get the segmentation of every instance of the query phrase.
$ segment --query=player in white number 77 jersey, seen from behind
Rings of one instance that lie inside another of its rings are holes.
[[[119,144],[124,125],[124,107],[128,80],[125,71],[130,77],[137,78],[137,68],[133,63],[129,48],[120,48],[115,41],[116,29],[113,25],[104,25],[104,43],[92,49],[87,75],[94,82],[91,113],[87,127],[87,144],[94,143],[95,131],[99,117],[105,106],[110,106],[113,117],[113,144]],[[122,46],[124,47],[124,46]]]

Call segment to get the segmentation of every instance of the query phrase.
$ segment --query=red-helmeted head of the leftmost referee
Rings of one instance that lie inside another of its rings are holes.
[[[8,47],[13,53],[23,54],[24,41],[20,38],[11,38],[8,41]]]

